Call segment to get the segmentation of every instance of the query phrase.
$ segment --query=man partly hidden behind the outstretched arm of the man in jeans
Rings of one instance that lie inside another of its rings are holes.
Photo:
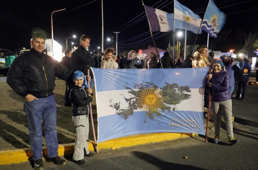
[[[71,70],[71,56],[72,56],[72,50],[70,49],[66,49],[64,51],[65,53],[65,56],[62,58],[62,61],[60,61],[60,64],[62,66],[65,66],[67,70]],[[64,100],[65,100],[65,106],[71,106],[71,102],[70,102],[70,98],[69,98],[69,92],[67,91],[68,88],[68,82],[65,81],[65,97],[64,97]]]

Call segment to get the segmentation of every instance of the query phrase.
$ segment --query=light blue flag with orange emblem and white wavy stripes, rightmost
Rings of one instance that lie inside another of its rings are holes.
[[[221,12],[212,0],[209,1],[201,29],[209,33],[210,37],[217,37],[226,22],[226,15]]]

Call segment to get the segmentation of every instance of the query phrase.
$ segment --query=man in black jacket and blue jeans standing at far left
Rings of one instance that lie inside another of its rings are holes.
[[[46,161],[65,165],[59,158],[56,132],[56,101],[54,97],[55,77],[66,80],[71,71],[43,53],[46,37],[34,32],[28,53],[16,57],[8,71],[7,83],[24,98],[24,111],[29,121],[29,141],[31,145],[34,169],[43,169],[41,118],[45,126],[45,138],[48,149]]]

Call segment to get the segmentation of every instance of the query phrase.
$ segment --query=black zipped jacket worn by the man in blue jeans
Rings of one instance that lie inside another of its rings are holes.
[[[56,77],[67,80],[71,74],[57,60],[30,49],[15,58],[7,74],[7,83],[22,97],[32,94],[43,98],[53,95]]]

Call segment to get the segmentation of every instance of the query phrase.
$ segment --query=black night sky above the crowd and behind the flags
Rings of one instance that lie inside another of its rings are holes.
[[[150,32],[148,32],[147,19],[144,18],[145,13],[141,0],[103,1],[104,49],[112,46],[112,43],[107,42],[107,37],[114,37],[114,40],[116,40],[116,36],[113,32],[121,32],[118,34],[118,47],[120,47],[121,50],[129,51],[133,49],[134,46],[151,41],[151,39],[148,38],[150,37]],[[178,0],[178,2],[187,6],[203,18],[209,0]],[[214,0],[214,2],[217,7],[221,8],[220,10],[226,14],[226,24],[222,32],[228,29],[243,29],[247,33],[250,31],[257,32],[258,3],[256,0]],[[2,3],[0,16],[0,49],[10,49],[12,51],[22,49],[23,47],[29,49],[29,41],[32,32],[38,29],[44,30],[47,38],[51,38],[51,13],[63,8],[66,8],[66,10],[53,14],[54,39],[63,46],[63,50],[66,49],[66,38],[71,37],[73,34],[77,37],[75,39],[68,39],[68,48],[71,48],[71,41],[79,43],[80,36],[86,34],[91,37],[89,50],[97,50],[97,46],[100,46],[101,49],[101,0],[26,0],[5,1]],[[87,3],[89,4],[85,5]],[[174,2],[172,2],[172,0],[144,0],[144,4],[148,6],[154,5],[154,8],[173,13]],[[132,24],[135,21],[139,22]],[[154,34],[156,33],[157,32],[154,32]],[[140,36],[141,34],[143,34],[142,37]],[[161,34],[162,33],[158,33],[156,36],[160,36]],[[136,36],[141,38],[135,39],[134,37]],[[187,36],[187,44],[193,44],[196,35],[188,31]],[[211,39],[212,38],[210,38],[210,40]],[[171,40],[172,44],[172,32],[161,36],[156,39],[155,42],[158,48],[166,49],[169,40]],[[135,44],[135,42],[138,41],[141,42]],[[182,41],[184,40],[182,39]],[[198,36],[197,43],[207,43],[206,32]]]

